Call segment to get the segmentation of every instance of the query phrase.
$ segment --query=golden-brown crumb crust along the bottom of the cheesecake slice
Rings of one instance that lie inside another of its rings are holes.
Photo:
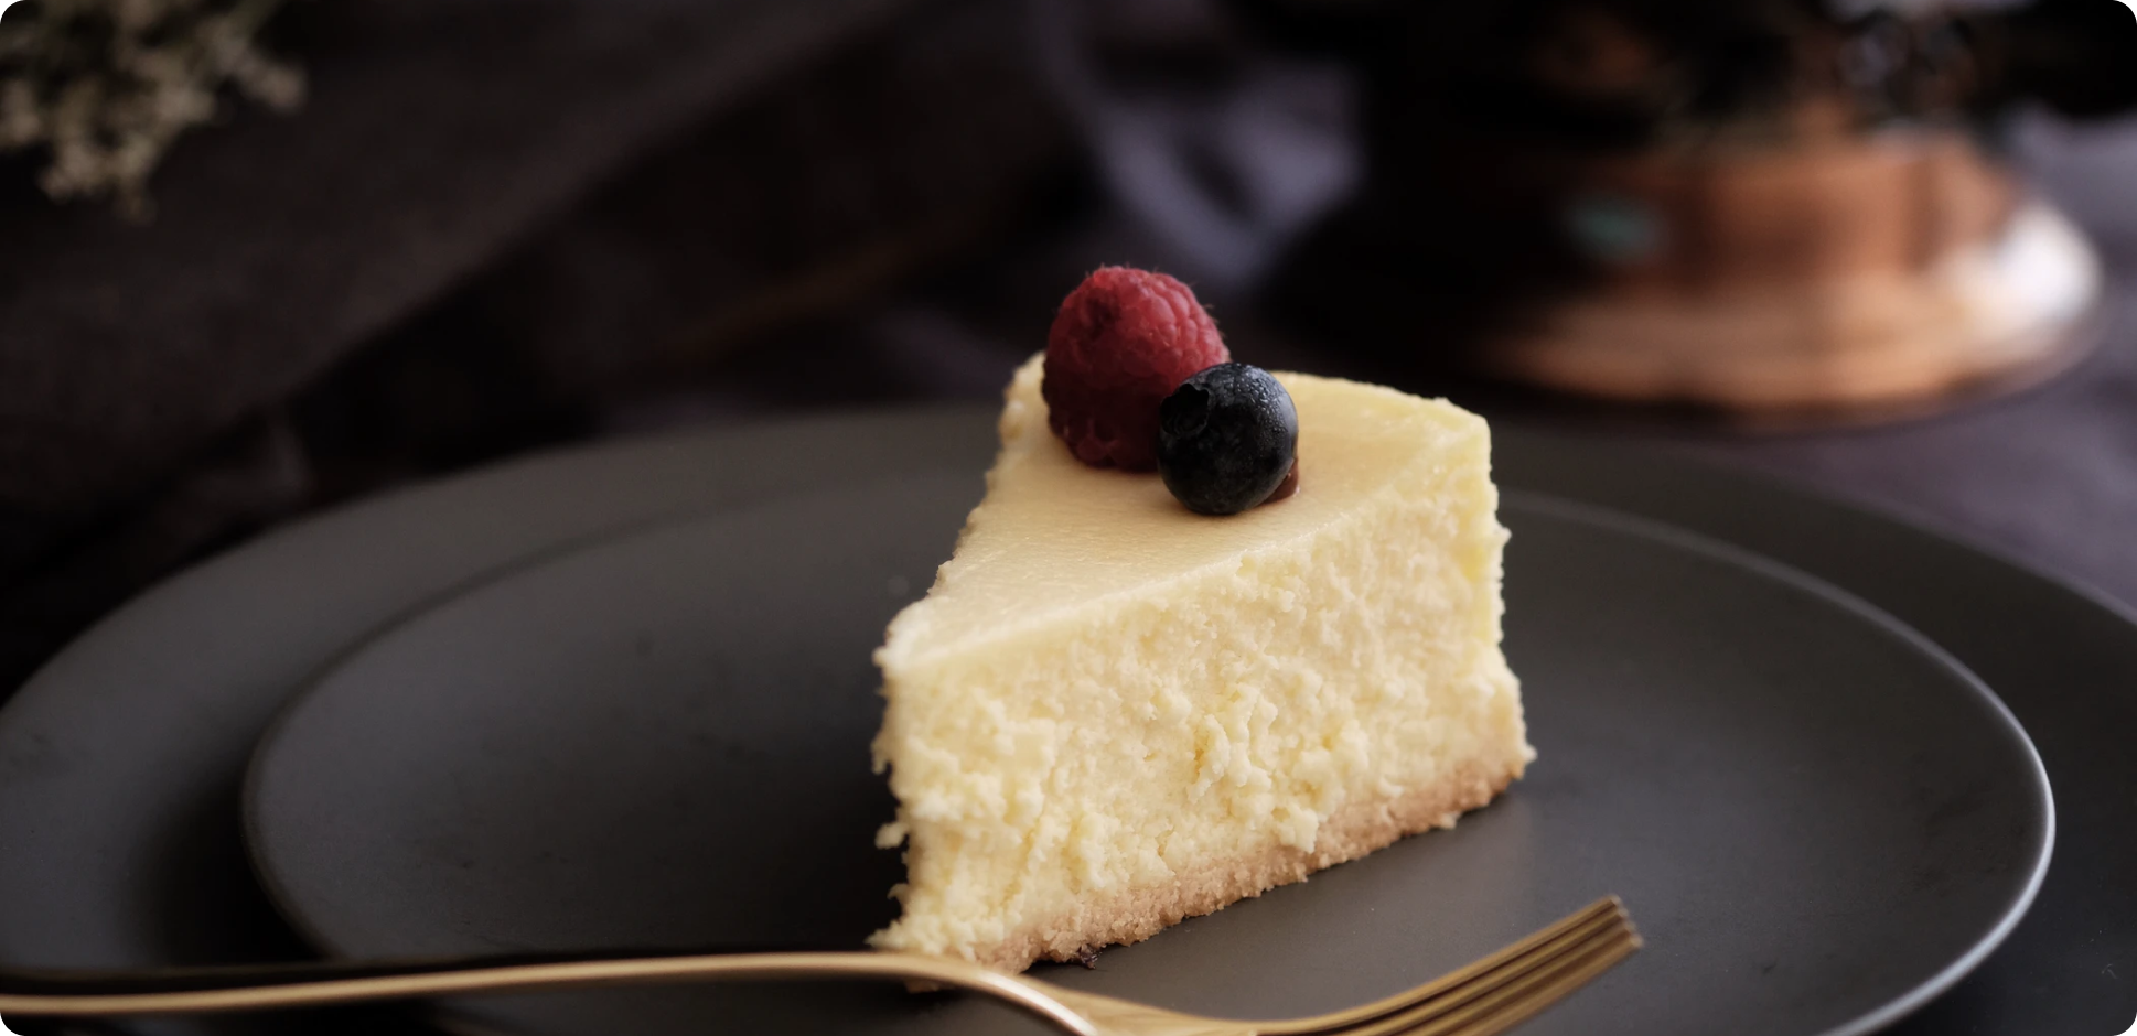
[[[1312,852],[1276,846],[1182,872],[1163,886],[1090,895],[1066,914],[1030,925],[994,946],[977,946],[974,959],[998,972],[1021,972],[1039,959],[1088,961],[1105,946],[1148,940],[1180,921],[1306,880],[1312,872],[1359,859],[1400,837],[1455,827],[1464,812],[1489,803],[1519,780],[1524,767],[1522,758],[1460,765],[1434,786],[1348,803],[1321,822]]]

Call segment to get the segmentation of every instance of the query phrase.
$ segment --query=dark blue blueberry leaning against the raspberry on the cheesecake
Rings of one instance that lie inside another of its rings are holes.
[[[1299,412],[1261,367],[1218,363],[1158,404],[1158,474],[1188,511],[1237,515],[1291,474]]]

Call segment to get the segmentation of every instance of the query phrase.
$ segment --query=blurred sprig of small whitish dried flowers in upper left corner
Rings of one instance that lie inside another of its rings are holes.
[[[254,45],[282,0],[19,0],[0,13],[0,152],[43,150],[53,199],[147,214],[171,143],[224,88],[288,111],[303,73]]]

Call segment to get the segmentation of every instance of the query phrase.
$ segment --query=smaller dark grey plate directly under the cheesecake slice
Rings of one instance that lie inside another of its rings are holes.
[[[889,921],[870,652],[970,478],[628,536],[440,605],[269,733],[248,833],[344,957],[804,940]],[[1868,1032],[2002,938],[2054,810],[2024,731],[1913,630],[1744,551],[1511,502],[1509,658],[1543,758],[1492,810],[1049,970],[1233,1017],[1387,995],[1603,893],[1650,948],[1528,1025]],[[494,1000],[534,1034],[1043,1032],[972,1002],[771,987]]]

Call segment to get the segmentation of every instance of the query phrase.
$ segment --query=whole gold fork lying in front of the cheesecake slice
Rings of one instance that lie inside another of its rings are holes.
[[[526,989],[769,978],[891,978],[1009,1002],[1075,1036],[1489,1036],[1639,948],[1607,897],[1468,968],[1351,1010],[1286,1021],[1182,1015],[910,953],[724,953],[547,963],[299,963],[167,972],[0,972],[0,1017],[201,1015]]]

